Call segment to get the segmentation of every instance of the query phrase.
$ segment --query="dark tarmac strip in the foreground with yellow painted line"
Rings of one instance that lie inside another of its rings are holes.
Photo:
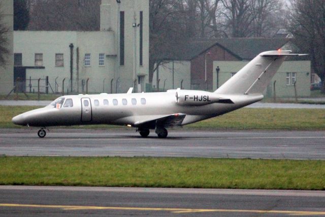
[[[1,216],[325,216],[323,191],[0,186]]]

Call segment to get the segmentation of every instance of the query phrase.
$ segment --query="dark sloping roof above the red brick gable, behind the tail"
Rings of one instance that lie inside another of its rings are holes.
[[[220,46],[240,60],[250,60],[263,51],[280,49],[287,42],[289,39],[285,38],[201,38],[176,48],[166,59],[191,60],[213,46]]]

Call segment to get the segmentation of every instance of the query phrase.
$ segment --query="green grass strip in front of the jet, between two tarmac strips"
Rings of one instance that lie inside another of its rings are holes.
[[[0,184],[325,190],[325,161],[2,157]]]

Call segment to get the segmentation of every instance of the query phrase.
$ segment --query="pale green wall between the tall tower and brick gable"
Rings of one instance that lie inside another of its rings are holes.
[[[182,88],[190,89],[190,61],[174,61],[174,89]],[[167,89],[173,89],[173,61],[164,66],[159,66],[159,90],[164,90],[164,81],[165,82],[165,91]],[[157,71],[153,74],[152,84],[154,90],[157,88]]]

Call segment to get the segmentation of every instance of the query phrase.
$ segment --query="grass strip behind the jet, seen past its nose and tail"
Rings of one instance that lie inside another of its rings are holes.
[[[0,128],[18,128],[13,116],[37,106],[0,106]],[[107,125],[83,128],[112,128]],[[115,127],[116,128],[116,127]],[[203,120],[184,127],[202,130],[325,130],[323,109],[242,108],[225,115]]]

